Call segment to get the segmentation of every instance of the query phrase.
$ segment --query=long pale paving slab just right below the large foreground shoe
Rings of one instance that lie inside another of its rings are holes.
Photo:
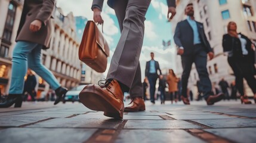
[[[183,120],[128,120],[125,129],[200,129]]]

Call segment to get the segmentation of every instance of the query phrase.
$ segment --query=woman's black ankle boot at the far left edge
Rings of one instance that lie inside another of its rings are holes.
[[[13,104],[15,104],[15,108],[21,107],[22,94],[9,94],[7,99],[4,102],[0,103],[0,108],[8,108],[11,107],[11,105]]]

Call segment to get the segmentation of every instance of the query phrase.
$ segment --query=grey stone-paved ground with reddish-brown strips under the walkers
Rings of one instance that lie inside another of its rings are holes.
[[[191,104],[146,101],[146,111],[125,113],[124,120],[114,120],[78,102],[55,106],[23,102],[21,108],[0,109],[0,141],[255,142],[255,104],[241,105],[239,100]]]

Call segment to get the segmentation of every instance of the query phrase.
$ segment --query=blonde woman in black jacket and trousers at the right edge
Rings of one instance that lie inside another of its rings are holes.
[[[253,48],[255,46],[251,40],[242,33],[238,33],[236,23],[230,21],[227,25],[227,34],[223,35],[223,51],[228,54],[227,61],[235,74],[236,88],[238,88],[241,103],[245,104],[251,104],[251,101],[245,95],[243,78],[254,93],[254,101],[256,102],[255,52]]]

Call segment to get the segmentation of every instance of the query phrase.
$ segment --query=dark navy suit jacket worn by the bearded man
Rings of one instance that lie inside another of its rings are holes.
[[[212,52],[212,48],[205,36],[205,30],[203,30],[203,24],[196,21],[198,26],[199,37],[201,39],[202,45],[205,48],[205,51]],[[180,21],[177,24],[174,34],[174,42],[178,47],[183,46],[184,54],[183,55],[190,55],[193,53],[193,46],[194,46],[194,35],[193,29],[190,26],[187,20]]]

